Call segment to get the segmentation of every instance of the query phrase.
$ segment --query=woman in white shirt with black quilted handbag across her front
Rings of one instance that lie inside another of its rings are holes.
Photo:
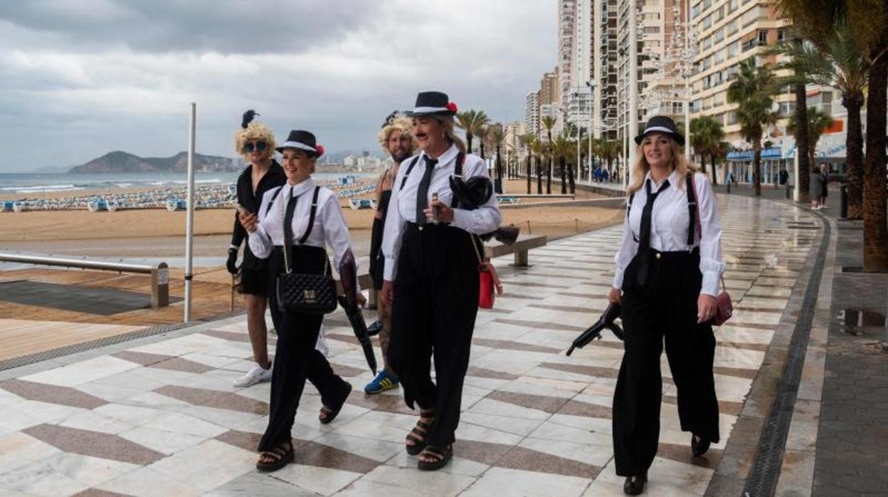
[[[293,460],[290,430],[306,379],[321,393],[319,420],[324,424],[333,421],[352,391],[352,385],[333,373],[327,358],[315,349],[323,315],[281,312],[278,307],[275,281],[284,271],[284,247],[292,250],[294,273],[323,273],[329,266],[325,244],[333,249],[340,274],[345,265],[355,265],[355,261],[336,194],[315,185],[311,178],[315,161],[323,155],[314,135],[290,132],[277,150],[287,183],[266,192],[257,214],[240,218],[250,233],[250,250],[257,257],[268,258],[268,303],[278,335],[268,428],[259,443],[261,455],[256,465],[266,471],[281,469]],[[291,227],[291,239],[286,241],[285,224]],[[356,267],[350,274],[357,275]],[[357,282],[353,288],[359,288]],[[353,298],[363,305],[360,292]]]

